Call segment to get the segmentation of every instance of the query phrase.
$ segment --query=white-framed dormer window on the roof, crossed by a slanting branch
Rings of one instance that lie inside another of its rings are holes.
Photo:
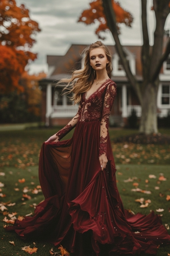
[[[136,73],[135,56],[132,53],[130,53],[127,49],[124,49],[124,51],[126,53],[126,59],[129,62],[130,69],[131,69],[133,75],[135,75],[135,73]],[[123,65],[122,65],[122,61],[119,58],[117,53],[114,54],[114,56],[113,56],[113,75],[114,76],[125,76],[126,75]]]

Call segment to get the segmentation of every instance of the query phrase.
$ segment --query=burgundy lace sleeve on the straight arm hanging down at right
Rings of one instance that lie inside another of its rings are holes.
[[[113,82],[107,86],[104,97],[103,111],[100,126],[99,156],[107,154],[108,119],[112,110],[113,101],[116,97],[116,84]]]

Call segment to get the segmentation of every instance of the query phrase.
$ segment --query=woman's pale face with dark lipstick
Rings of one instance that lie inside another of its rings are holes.
[[[90,66],[97,70],[106,69],[106,64],[109,62],[107,60],[105,51],[102,47],[94,48],[89,53]]]

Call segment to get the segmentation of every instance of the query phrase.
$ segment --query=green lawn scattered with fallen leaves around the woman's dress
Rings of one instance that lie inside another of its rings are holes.
[[[38,204],[44,199],[41,190],[37,194],[32,193],[35,188],[39,189],[37,187],[39,185],[39,151],[42,142],[56,131],[57,129],[33,129],[0,133],[0,182],[4,184],[1,187],[0,194],[6,195],[6,197],[0,198],[0,201],[16,203],[13,206],[7,206],[7,212],[17,212],[19,215],[30,214],[34,212],[34,204]],[[114,138],[131,135],[135,132],[137,131],[110,129],[110,136],[113,141]],[[162,130],[161,132],[164,134],[170,133],[169,130]],[[71,134],[67,135],[65,139],[70,136]],[[112,143],[112,147],[117,167],[117,184],[124,208],[143,214],[162,208],[164,209],[162,213],[163,224],[169,224],[170,226],[170,201],[166,200],[166,196],[170,195],[169,145],[149,146],[133,143]],[[126,159],[130,159],[130,161]],[[166,181],[159,181],[160,173],[164,174],[167,178]],[[154,174],[156,178],[150,179],[149,174]],[[133,178],[133,182],[124,182],[129,177]],[[25,182],[20,183],[19,180],[23,178]],[[151,191],[151,194],[132,191],[135,188],[133,186],[134,182],[139,184],[140,189]],[[159,187],[159,189],[155,189],[155,187]],[[31,198],[23,198],[23,194],[27,194]],[[151,203],[147,208],[140,208],[140,203],[135,201],[138,198],[150,199]],[[1,221],[3,218],[4,215],[1,211]],[[57,251],[52,244],[43,243],[38,239],[37,241],[23,241],[15,233],[6,232],[3,225],[0,225],[0,239],[0,256],[27,255],[26,252],[21,250],[21,247],[30,245],[33,248],[33,242],[36,243],[38,248],[37,256],[49,256],[52,247],[54,252]],[[10,244],[9,241],[14,241],[15,246]],[[170,253],[170,246],[164,246],[158,249],[157,256],[165,256],[168,253]]]

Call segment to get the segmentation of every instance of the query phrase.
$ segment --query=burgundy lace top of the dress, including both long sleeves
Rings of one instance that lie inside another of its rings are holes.
[[[99,156],[106,154],[108,119],[116,97],[116,84],[107,79],[94,93],[87,98],[87,93],[82,94],[78,113],[60,131],[56,133],[59,140],[62,139],[77,122],[100,121],[100,145]]]

